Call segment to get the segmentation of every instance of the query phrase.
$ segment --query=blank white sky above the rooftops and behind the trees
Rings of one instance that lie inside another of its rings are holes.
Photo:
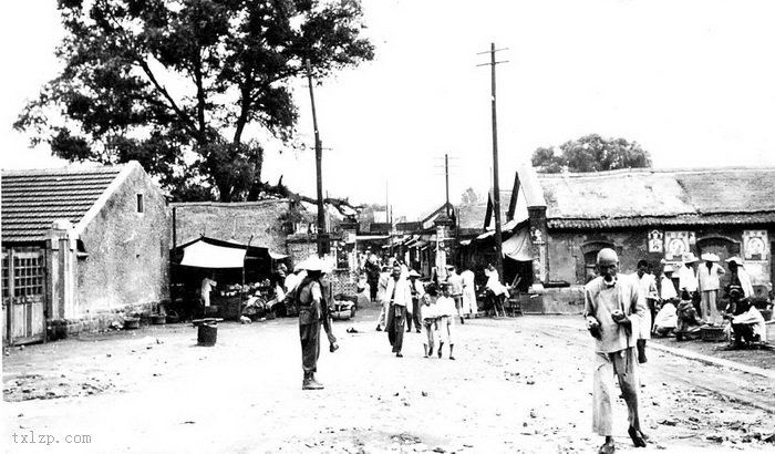
[[[394,216],[431,211],[493,167],[490,43],[498,61],[499,184],[540,146],[597,133],[638,142],[654,167],[775,166],[775,4],[732,0],[363,0],[375,58],[320,81],[316,107],[323,189],[389,203]],[[0,163],[62,166],[28,148],[11,124],[61,65],[54,0],[0,7]],[[298,140],[271,144],[262,179],[314,196],[306,82]]]

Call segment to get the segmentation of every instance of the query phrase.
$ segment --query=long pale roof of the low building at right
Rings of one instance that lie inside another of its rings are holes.
[[[775,168],[539,174],[549,228],[767,224]]]

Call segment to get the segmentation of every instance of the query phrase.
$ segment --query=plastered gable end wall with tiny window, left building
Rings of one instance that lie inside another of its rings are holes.
[[[143,196],[138,209],[137,196]],[[66,320],[89,319],[127,306],[169,298],[169,219],[164,194],[142,172],[132,172],[80,236],[76,295]]]

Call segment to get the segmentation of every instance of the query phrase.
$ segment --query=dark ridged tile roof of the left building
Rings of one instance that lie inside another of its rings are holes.
[[[76,225],[123,166],[2,172],[2,241],[41,241],[56,219]]]

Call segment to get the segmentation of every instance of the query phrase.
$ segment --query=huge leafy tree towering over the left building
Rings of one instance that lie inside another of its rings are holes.
[[[269,187],[255,137],[292,142],[290,83],[304,59],[319,80],[373,58],[359,0],[59,0],[59,10],[64,69],[14,127],[70,161],[137,159],[177,199],[255,199]]]

